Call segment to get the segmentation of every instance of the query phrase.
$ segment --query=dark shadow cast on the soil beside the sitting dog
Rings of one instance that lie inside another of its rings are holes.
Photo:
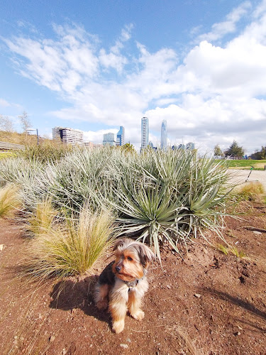
[[[57,283],[52,288],[49,307],[73,312],[80,309],[85,315],[95,317],[97,320],[111,324],[111,317],[106,310],[98,310],[94,305],[93,292],[98,276],[90,276],[84,280],[66,280]]]

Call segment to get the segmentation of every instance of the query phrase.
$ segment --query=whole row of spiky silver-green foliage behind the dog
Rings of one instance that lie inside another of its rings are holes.
[[[219,233],[229,204],[226,168],[196,151],[138,155],[104,147],[74,150],[57,163],[11,159],[0,165],[1,181],[21,185],[28,209],[47,197],[64,214],[78,213],[84,200],[94,210],[111,208],[121,234],[148,241],[159,258],[165,239],[177,250],[180,239],[204,228]]]

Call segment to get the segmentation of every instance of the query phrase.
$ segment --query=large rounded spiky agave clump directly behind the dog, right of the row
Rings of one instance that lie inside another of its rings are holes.
[[[117,221],[124,234],[148,239],[160,260],[160,241],[174,250],[204,228],[219,233],[228,204],[226,168],[189,151],[147,151],[140,162],[126,165],[115,188]]]

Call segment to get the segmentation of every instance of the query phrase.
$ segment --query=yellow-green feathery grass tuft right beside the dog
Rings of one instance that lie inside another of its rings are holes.
[[[87,273],[113,240],[113,217],[108,211],[92,212],[87,205],[78,219],[42,224],[29,241],[23,275],[32,280],[58,279]]]

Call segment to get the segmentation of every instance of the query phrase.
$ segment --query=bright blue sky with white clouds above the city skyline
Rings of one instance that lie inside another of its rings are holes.
[[[266,145],[266,0],[2,0],[0,114],[101,143]],[[33,132],[34,133],[34,132]]]

